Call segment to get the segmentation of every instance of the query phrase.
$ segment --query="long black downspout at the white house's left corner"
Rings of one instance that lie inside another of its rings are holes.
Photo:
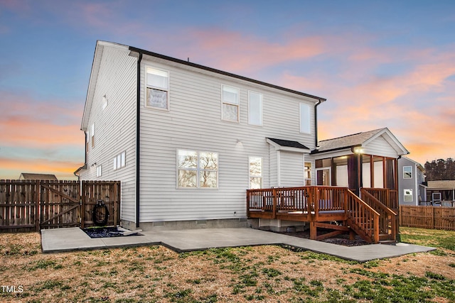
[[[136,87],[136,228],[139,228],[140,207],[140,172],[141,172],[141,61],[142,53],[139,52],[137,60],[137,87]]]

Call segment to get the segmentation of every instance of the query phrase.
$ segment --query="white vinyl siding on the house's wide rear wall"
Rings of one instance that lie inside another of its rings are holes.
[[[149,66],[169,72],[171,110],[151,111],[141,106],[141,222],[245,219],[250,156],[263,159],[262,187],[277,186],[277,176],[270,172],[277,171],[277,151],[273,152],[272,163],[266,137],[299,141],[314,149],[314,136],[299,133],[296,109],[301,102],[313,109],[317,100],[147,56],[142,62],[143,98],[144,74]],[[237,92],[234,100],[238,101],[232,102],[238,104],[236,123],[220,119],[223,87]],[[250,125],[248,106],[241,106],[248,104],[250,91],[263,94],[262,127]],[[141,101],[144,104],[145,100]],[[311,132],[314,133],[313,128]],[[178,188],[178,150],[218,153],[217,189]],[[299,164],[301,169],[294,172],[299,184],[303,184],[301,155]]]

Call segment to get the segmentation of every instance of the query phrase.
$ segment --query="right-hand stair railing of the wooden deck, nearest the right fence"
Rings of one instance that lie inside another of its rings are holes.
[[[373,194],[365,189],[361,189],[362,200],[370,205],[380,214],[379,228],[380,233],[387,235],[388,240],[395,241],[398,233],[398,216],[395,211],[382,204]]]

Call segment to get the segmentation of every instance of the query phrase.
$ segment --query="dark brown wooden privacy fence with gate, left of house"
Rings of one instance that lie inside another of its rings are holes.
[[[0,232],[93,226],[97,202],[119,224],[119,181],[0,180]]]

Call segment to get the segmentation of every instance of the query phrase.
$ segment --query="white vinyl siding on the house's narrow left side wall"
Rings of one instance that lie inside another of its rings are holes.
[[[80,171],[80,179],[96,180],[97,167],[92,165],[102,165],[99,178],[121,181],[121,219],[134,222],[137,58],[129,53],[128,48],[98,46],[93,65],[100,65],[100,71],[96,77],[91,76],[96,83],[90,83],[92,104],[88,108],[90,116],[85,117],[87,145],[91,145],[90,128],[94,124],[96,147],[87,153],[87,170]],[[109,106],[104,106],[103,97],[109,100]],[[131,165],[114,170],[112,160],[123,151]]]

